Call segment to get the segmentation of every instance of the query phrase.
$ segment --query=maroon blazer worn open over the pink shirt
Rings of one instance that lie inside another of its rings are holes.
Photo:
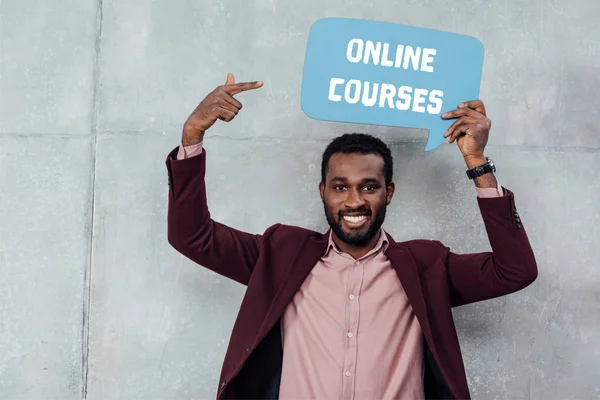
[[[211,218],[206,150],[176,160],[169,173],[168,241],[179,253],[245,285],[223,362],[217,399],[277,398],[282,365],[281,317],[325,253],[327,233],[275,224],[250,234]],[[386,255],[424,337],[427,398],[470,398],[452,307],[516,292],[537,277],[537,264],[514,194],[477,198],[492,252],[456,254],[435,240],[395,242]],[[236,194],[237,195],[237,194]]]

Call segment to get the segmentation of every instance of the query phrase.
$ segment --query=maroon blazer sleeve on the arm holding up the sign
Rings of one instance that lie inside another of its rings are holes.
[[[538,275],[537,263],[514,193],[478,198],[491,252],[456,254],[443,247],[452,307],[514,293]]]

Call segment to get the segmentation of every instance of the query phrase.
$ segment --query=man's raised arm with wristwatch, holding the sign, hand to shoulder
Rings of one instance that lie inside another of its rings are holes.
[[[481,100],[462,103],[442,115],[457,118],[444,134],[457,143],[467,169],[488,163],[484,155],[491,121]],[[489,168],[489,167],[488,167]],[[515,206],[514,193],[502,187],[493,171],[473,177],[477,202],[483,217],[491,252],[456,254],[445,251],[445,264],[452,306],[507,295],[530,285],[538,274],[537,263],[523,222]]]

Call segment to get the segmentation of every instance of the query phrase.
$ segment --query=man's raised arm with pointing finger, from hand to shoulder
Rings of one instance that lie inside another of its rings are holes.
[[[179,253],[220,275],[247,285],[260,246],[270,234],[250,234],[211,218],[206,199],[204,133],[217,119],[229,122],[241,109],[233,95],[262,82],[234,83],[231,74],[192,112],[181,145],[167,157],[169,172],[168,241]]]

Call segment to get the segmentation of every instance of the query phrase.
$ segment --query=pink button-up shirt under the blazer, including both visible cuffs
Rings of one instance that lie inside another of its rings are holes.
[[[202,143],[179,147],[178,159]],[[479,197],[502,188],[476,188]],[[332,236],[283,315],[280,399],[423,399],[421,327],[385,256],[375,247],[354,259]]]

